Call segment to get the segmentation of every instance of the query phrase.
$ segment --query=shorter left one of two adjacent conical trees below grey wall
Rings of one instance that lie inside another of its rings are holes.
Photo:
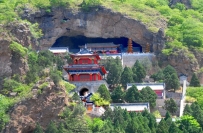
[[[127,83],[133,82],[133,72],[129,67],[125,67],[121,74],[121,84],[126,88]]]

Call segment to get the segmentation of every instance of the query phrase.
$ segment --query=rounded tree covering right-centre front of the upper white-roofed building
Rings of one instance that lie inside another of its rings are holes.
[[[140,93],[142,96],[142,102],[149,102],[151,108],[156,106],[157,95],[149,86],[143,88]]]

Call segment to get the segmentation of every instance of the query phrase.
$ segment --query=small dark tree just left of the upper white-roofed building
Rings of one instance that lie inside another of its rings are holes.
[[[125,93],[122,91],[121,86],[117,86],[111,93],[113,103],[122,103],[124,101]]]

